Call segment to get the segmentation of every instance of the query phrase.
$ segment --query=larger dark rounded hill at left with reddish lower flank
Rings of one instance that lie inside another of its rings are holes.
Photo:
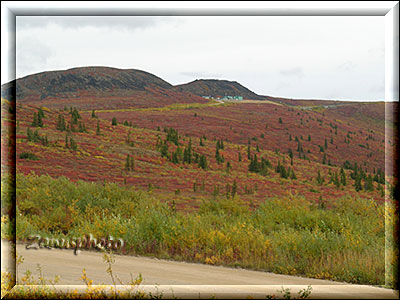
[[[177,92],[163,79],[135,69],[81,67],[29,75],[2,86],[2,97],[47,107],[80,108],[160,107],[173,103],[205,102]]]

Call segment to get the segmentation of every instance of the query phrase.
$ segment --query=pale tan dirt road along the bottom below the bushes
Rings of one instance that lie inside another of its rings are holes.
[[[17,255],[24,259],[18,267],[17,278],[21,278],[26,270],[37,276],[39,264],[46,278],[52,279],[59,275],[60,285],[82,285],[80,277],[83,269],[86,269],[88,278],[94,284],[112,284],[103,255],[98,252],[81,251],[76,256],[71,250],[26,250],[25,245],[18,244]],[[185,298],[198,299],[200,292],[202,298],[207,295],[219,298],[251,295],[265,299],[266,295],[279,295],[277,290],[282,286],[297,293],[308,285],[313,288],[312,298],[398,298],[398,294],[392,290],[372,286],[145,257],[116,255],[112,269],[124,284],[131,279],[131,273],[133,277],[141,273],[144,279],[142,288],[145,291],[163,291],[166,298],[173,291],[174,296]]]

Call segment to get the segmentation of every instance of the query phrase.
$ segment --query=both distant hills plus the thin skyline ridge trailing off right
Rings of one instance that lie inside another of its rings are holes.
[[[205,103],[202,96],[242,96],[290,106],[336,105],[338,101],[263,96],[236,81],[198,79],[173,86],[145,71],[109,67],[79,67],[32,74],[2,85],[1,96],[49,108],[124,109],[163,107],[175,103]],[[348,103],[350,104],[350,103]]]

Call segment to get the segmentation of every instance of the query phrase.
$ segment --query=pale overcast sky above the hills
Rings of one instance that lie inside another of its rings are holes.
[[[17,17],[17,78],[79,66],[261,95],[383,100],[384,17]]]

